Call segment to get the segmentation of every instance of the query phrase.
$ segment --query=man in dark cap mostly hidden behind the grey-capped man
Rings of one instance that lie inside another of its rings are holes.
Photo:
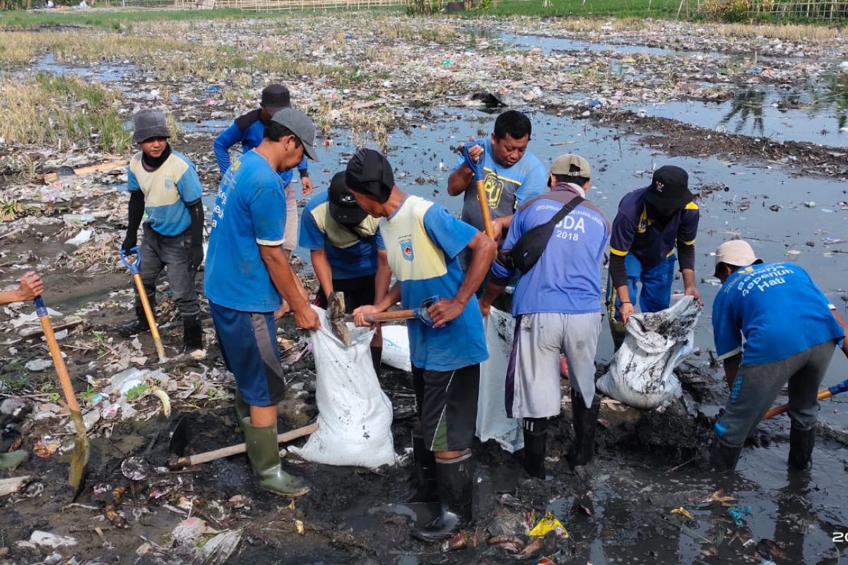
[[[215,138],[213,147],[220,174],[223,175],[226,169],[230,168],[230,147],[241,143],[243,152],[259,147],[265,134],[265,126],[271,121],[271,116],[282,108],[291,108],[291,106],[291,96],[285,86],[265,86],[259,108],[239,116],[229,128]],[[305,157],[297,164],[297,168],[300,173],[300,182],[304,186],[304,197],[308,197],[312,193],[312,180],[310,180]],[[291,168],[280,172],[280,178],[286,187],[286,241],[282,244],[286,258],[289,258],[294,248],[298,246],[298,203],[291,186],[293,170],[294,168]]]

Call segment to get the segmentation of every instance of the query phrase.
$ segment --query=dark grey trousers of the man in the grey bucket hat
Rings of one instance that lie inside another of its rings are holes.
[[[156,309],[156,280],[162,269],[168,271],[168,284],[174,296],[176,307],[180,310],[183,318],[193,318],[200,313],[200,301],[198,293],[194,289],[194,278],[196,269],[190,269],[188,261],[189,249],[192,246],[191,230],[186,230],[180,235],[168,237],[153,231],[144,224],[144,236],[141,251],[141,265],[138,273],[142,275],[144,291],[148,295],[150,307],[155,313]],[[142,301],[136,296],[136,314],[138,319],[144,319]]]

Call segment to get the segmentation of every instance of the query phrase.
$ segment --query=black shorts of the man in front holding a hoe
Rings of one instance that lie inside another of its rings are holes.
[[[430,451],[461,451],[474,443],[480,364],[454,371],[412,366],[421,433]]]

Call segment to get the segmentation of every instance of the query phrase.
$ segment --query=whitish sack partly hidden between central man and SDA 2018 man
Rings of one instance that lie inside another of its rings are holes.
[[[512,353],[516,320],[497,308],[484,319],[488,360],[480,365],[480,396],[477,399],[477,437],[495,440],[514,453],[524,447],[521,420],[506,417],[506,369]]]

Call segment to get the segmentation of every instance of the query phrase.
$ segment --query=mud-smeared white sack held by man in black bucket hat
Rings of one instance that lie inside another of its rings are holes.
[[[624,343],[598,390],[635,408],[661,407],[683,394],[674,368],[694,349],[701,307],[692,296],[657,313],[633,314]]]

